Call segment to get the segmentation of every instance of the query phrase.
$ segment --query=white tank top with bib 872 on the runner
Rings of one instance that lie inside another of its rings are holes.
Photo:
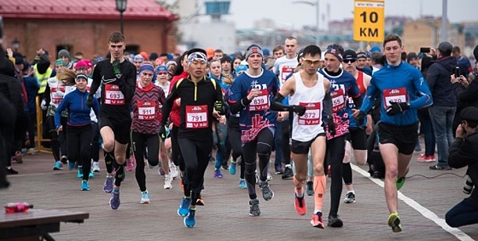
[[[317,73],[317,83],[313,87],[303,85],[299,72],[294,74],[295,93],[289,96],[290,105],[303,105],[307,108],[306,114],[298,116],[294,113],[292,121],[292,139],[307,142],[318,134],[324,133],[322,126],[323,97],[326,95],[323,90],[323,75]]]

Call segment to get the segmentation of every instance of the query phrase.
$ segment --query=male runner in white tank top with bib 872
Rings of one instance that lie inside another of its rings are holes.
[[[335,125],[332,121],[332,100],[330,82],[317,73],[321,50],[316,45],[309,45],[303,50],[303,69],[288,78],[279,94],[274,98],[271,108],[277,111],[295,112],[292,118],[292,157],[295,164],[295,209],[299,215],[306,215],[306,200],[303,197],[303,182],[308,173],[308,152],[312,152],[314,165],[315,210],[310,223],[313,227],[323,229],[322,204],[326,191],[326,176],[323,160],[326,156],[326,133],[322,125],[322,112],[325,111],[328,129],[333,134]],[[314,94],[310,94],[314,93]],[[289,104],[283,105],[285,96]]]

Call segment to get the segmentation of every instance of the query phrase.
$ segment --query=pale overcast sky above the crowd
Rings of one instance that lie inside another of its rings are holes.
[[[199,0],[203,2],[205,0]],[[215,0],[207,0],[215,1]],[[223,0],[219,0],[223,1]],[[252,28],[253,21],[270,18],[277,25],[299,29],[315,25],[315,6],[293,3],[295,0],[231,0],[230,15],[223,17],[234,21],[236,28]],[[302,0],[315,3],[317,0]],[[353,18],[353,0],[319,0],[321,20],[330,4],[330,19]],[[420,14],[441,16],[441,0],[386,0],[385,15],[406,16],[417,19]],[[422,7],[421,7],[422,6]],[[205,7],[203,7],[204,11]],[[452,23],[478,21],[478,0],[448,0],[448,19]],[[323,25],[321,25],[321,28]]]

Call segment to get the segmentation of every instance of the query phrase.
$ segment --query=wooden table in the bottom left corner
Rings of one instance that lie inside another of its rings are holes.
[[[0,213],[0,240],[54,240],[48,233],[60,231],[60,222],[77,222],[89,213],[58,209],[30,209],[26,213]]]

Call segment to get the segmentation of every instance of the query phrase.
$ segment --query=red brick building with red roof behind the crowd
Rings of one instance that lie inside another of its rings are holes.
[[[39,48],[52,58],[63,48],[105,56],[110,32],[120,29],[114,0],[0,0],[3,17],[3,46],[17,39],[19,52],[32,61]],[[123,12],[126,51],[132,53],[175,52],[176,14],[153,0],[128,0]]]

